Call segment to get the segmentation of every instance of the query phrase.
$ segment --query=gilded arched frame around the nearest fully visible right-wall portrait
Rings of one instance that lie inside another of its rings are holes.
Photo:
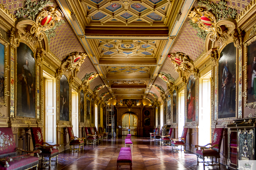
[[[216,119],[217,120],[230,120],[230,119],[237,119],[237,114],[238,114],[238,109],[237,109],[237,106],[238,106],[238,103],[237,103],[237,100],[235,100],[235,108],[236,108],[236,111],[234,113],[235,116],[231,116],[231,117],[227,117],[227,118],[219,118],[219,98],[221,96],[219,96],[219,78],[218,78],[218,75],[219,75],[219,60],[221,58],[221,52],[222,50],[230,43],[233,43],[233,39],[229,39],[225,42],[225,44],[223,44],[223,46],[219,49],[218,51],[218,55],[219,55],[219,58],[218,58],[218,61],[217,61],[217,64],[215,66],[215,97],[216,97],[216,100],[215,100],[215,110],[216,110]],[[234,47],[236,48],[236,47]],[[238,63],[238,49],[236,48],[236,59],[235,59],[235,63]],[[235,69],[235,73],[236,73],[236,78],[235,78],[235,85],[236,85],[236,99],[238,97],[238,64],[235,64],[236,66],[236,69]]]

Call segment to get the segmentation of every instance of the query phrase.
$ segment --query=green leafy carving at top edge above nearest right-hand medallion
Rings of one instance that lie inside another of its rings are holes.
[[[205,7],[208,11],[211,11],[216,16],[217,21],[227,17],[235,19],[237,15],[236,9],[227,7],[227,3],[223,0],[219,1],[218,4],[208,0],[199,0],[197,1],[197,5]]]

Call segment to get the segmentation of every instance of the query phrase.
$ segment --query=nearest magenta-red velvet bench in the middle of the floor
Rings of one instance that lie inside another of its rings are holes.
[[[121,147],[120,153],[116,161],[116,169],[119,170],[121,165],[130,165],[130,170],[132,170],[132,153],[131,148]]]

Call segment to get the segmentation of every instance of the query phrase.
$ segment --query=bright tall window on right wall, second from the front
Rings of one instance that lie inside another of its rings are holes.
[[[185,123],[185,94],[184,90],[179,93],[179,110],[178,110],[178,138],[182,136]]]

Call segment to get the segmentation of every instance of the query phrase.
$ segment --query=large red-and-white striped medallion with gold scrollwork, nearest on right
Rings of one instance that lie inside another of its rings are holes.
[[[215,15],[210,11],[205,11],[204,8],[197,8],[190,12],[188,16],[193,23],[196,23],[199,28],[204,31],[211,32],[211,40],[215,41],[218,36],[217,21]]]

